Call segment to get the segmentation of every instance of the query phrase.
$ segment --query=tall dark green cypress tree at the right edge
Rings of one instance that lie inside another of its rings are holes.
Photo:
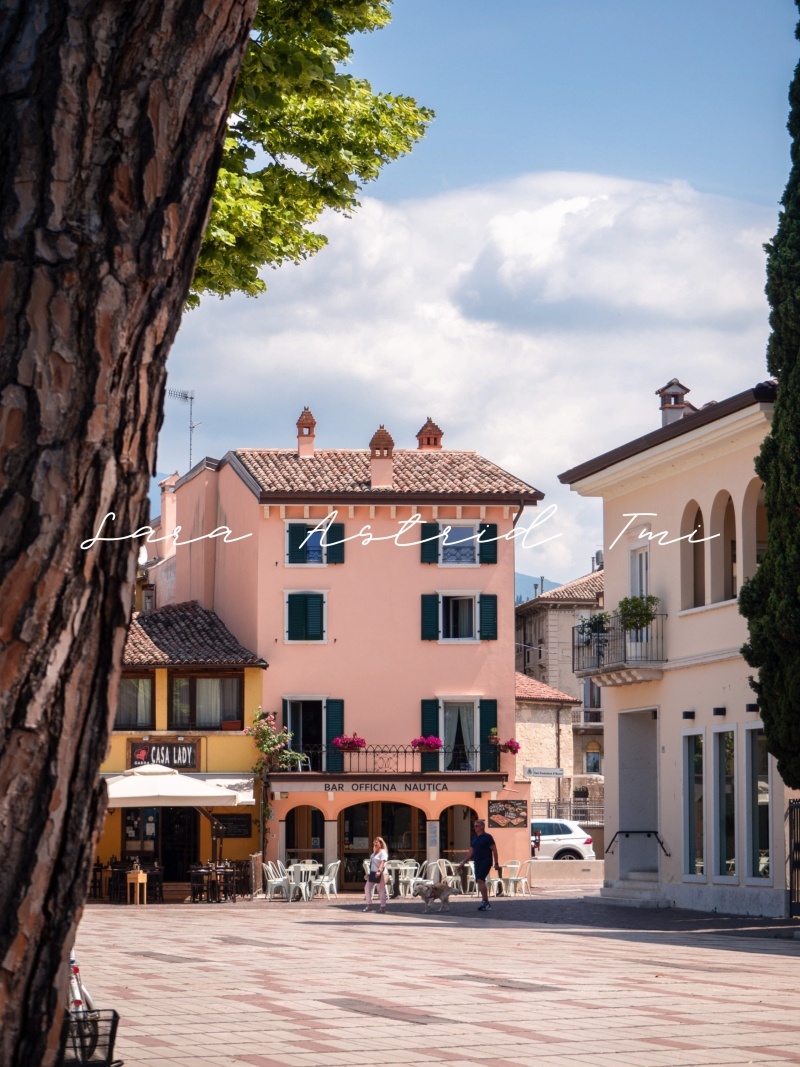
[[[800,7],[800,0],[796,0]],[[800,23],[795,31],[800,39]],[[791,170],[778,230],[767,251],[770,337],[767,367],[778,379],[774,414],[755,469],[764,482],[767,544],[739,595],[750,638],[742,655],[769,751],[791,789],[800,787],[800,63],[789,87]]]

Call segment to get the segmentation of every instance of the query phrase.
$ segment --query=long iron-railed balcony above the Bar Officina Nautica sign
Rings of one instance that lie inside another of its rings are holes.
[[[492,774],[500,769],[500,748],[455,745],[436,751],[420,751],[411,745],[367,745],[352,751],[334,745],[302,745],[294,751],[305,755],[298,770],[345,775],[441,775],[449,773]],[[284,774],[285,771],[275,771]],[[275,774],[273,773],[273,774]],[[292,771],[293,773],[293,771]]]

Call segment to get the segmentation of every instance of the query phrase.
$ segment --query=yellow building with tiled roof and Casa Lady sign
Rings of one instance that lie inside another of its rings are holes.
[[[257,752],[245,733],[267,664],[196,602],[139,611],[125,647],[105,777],[159,763],[237,794],[236,807],[109,809],[98,858],[158,864],[186,882],[193,863],[246,859],[260,848]],[[112,801],[113,803],[113,801]]]

